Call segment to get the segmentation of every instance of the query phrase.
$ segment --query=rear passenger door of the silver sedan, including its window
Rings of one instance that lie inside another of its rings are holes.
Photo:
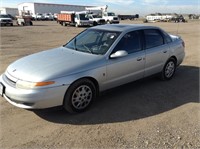
[[[144,30],[145,40],[145,76],[161,72],[169,58],[169,46],[158,29]]]

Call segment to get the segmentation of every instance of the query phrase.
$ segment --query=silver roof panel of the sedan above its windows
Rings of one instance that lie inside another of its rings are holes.
[[[102,30],[109,30],[109,31],[129,31],[129,30],[139,30],[139,29],[160,29],[159,27],[155,26],[147,26],[143,24],[106,24],[106,25],[99,25],[92,27],[92,29],[102,29]]]

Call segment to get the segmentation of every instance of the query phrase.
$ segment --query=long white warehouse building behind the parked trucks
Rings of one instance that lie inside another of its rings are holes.
[[[50,4],[50,3],[21,3],[18,5],[19,14],[22,12],[35,15],[37,13],[60,13],[60,11],[85,11],[86,7],[81,5]]]

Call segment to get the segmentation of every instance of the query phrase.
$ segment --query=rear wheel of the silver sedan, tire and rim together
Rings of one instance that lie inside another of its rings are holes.
[[[175,71],[176,71],[176,60],[174,58],[170,58],[166,62],[160,78],[162,80],[171,80],[175,74]]]

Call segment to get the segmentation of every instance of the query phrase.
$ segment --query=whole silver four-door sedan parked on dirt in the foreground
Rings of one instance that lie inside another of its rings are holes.
[[[184,47],[181,37],[154,26],[91,27],[62,47],[10,64],[0,76],[0,94],[20,108],[83,112],[107,89],[154,74],[172,79]]]

